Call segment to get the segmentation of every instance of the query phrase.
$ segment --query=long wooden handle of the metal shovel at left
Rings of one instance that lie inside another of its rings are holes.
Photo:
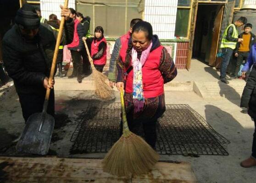
[[[68,0],[65,0],[64,8],[67,8],[67,5],[68,5]],[[60,42],[61,42],[64,22],[65,22],[65,17],[62,16],[61,17],[61,25],[60,25],[60,29],[59,29],[59,33],[58,33],[58,37],[57,37],[57,41],[56,41],[56,46],[55,46],[55,50],[54,50],[54,54],[53,54],[51,68],[50,68],[49,84],[51,83],[51,81],[53,79],[53,75],[54,75],[54,71],[55,71],[55,67],[56,67],[56,60],[57,60],[57,57],[58,57],[59,46],[60,46]],[[49,96],[50,96],[50,89],[47,88],[46,89],[46,94],[45,94],[45,102],[44,102],[43,112],[45,112],[46,109],[47,109]]]

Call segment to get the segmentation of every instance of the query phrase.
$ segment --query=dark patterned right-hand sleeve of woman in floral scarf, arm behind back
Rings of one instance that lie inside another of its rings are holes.
[[[165,47],[161,52],[159,70],[164,78],[165,84],[172,81],[177,76],[177,69],[173,63],[173,58],[171,58]]]

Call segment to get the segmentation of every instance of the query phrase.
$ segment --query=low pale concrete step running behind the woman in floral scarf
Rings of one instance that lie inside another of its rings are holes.
[[[82,83],[78,83],[76,78],[55,78],[55,90],[95,90],[92,75],[83,78]],[[108,81],[106,81],[108,82]],[[229,84],[220,81],[194,82],[194,81],[176,81],[164,85],[165,91],[194,91],[203,98],[214,99],[240,99],[244,87],[244,80],[232,80]],[[113,90],[117,91],[116,87]]]

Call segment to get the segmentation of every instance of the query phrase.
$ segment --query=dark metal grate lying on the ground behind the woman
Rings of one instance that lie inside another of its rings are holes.
[[[120,103],[90,103],[72,134],[71,154],[107,152],[119,139]],[[228,155],[229,141],[189,105],[166,105],[158,120],[156,151],[166,155]]]

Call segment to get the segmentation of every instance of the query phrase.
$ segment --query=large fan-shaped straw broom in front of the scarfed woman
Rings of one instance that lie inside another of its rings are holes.
[[[103,170],[117,176],[148,173],[158,161],[159,155],[140,136],[129,131],[122,89],[120,89],[120,96],[122,136],[103,159]]]

